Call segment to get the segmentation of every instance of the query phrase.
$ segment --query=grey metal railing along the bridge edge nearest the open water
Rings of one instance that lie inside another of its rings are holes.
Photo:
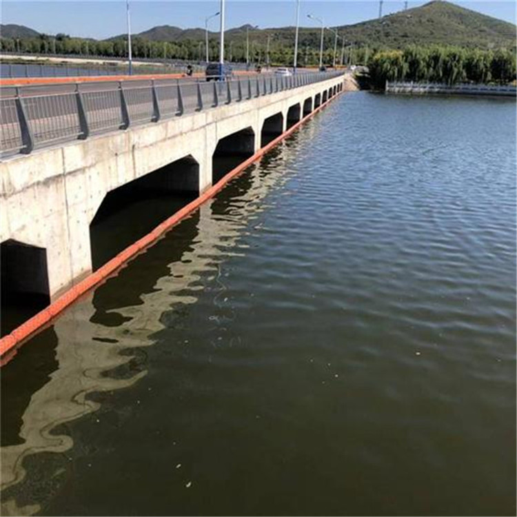
[[[5,87],[0,90],[1,156],[125,130],[219,105],[325,81],[341,72],[258,74],[228,81],[154,79]]]

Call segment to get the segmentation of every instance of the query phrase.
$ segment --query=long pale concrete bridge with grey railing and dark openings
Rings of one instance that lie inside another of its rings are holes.
[[[3,294],[53,301],[98,267],[90,227],[106,200],[198,196],[341,92],[343,74],[176,86],[3,94],[2,148],[16,153],[1,163]]]

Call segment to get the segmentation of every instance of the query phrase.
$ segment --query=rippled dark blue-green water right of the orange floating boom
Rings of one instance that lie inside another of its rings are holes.
[[[515,133],[331,103],[2,369],[4,514],[515,514]]]

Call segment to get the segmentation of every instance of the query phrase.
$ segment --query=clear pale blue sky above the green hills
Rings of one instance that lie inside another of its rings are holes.
[[[409,8],[425,1],[409,1]],[[458,5],[515,23],[514,1],[456,1]],[[294,25],[295,0],[227,0],[226,26],[245,23],[260,28]],[[403,9],[404,2],[385,0],[383,12]],[[131,0],[132,32],[157,25],[182,28],[202,27],[205,17],[219,10],[219,0],[144,1]],[[311,0],[301,1],[302,26],[311,26],[307,14],[325,19],[325,25],[338,26],[377,17],[378,1]],[[106,38],[125,32],[125,0],[119,1],[6,1],[1,2],[2,23],[19,23],[39,32],[65,32],[73,36]],[[210,28],[218,29],[213,19]]]

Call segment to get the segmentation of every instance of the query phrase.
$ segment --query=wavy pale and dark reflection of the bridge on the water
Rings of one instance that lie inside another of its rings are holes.
[[[277,149],[263,163],[279,159],[283,157]],[[252,165],[250,170],[254,168]],[[240,196],[243,203],[240,213],[243,217],[238,222],[217,216],[225,212],[225,201],[215,199],[203,205],[116,277],[72,305],[49,330],[19,352],[16,363],[23,368],[23,373],[17,373],[26,375],[32,367],[24,361],[29,347],[41,346],[39,341],[50,341],[55,347],[48,382],[34,390],[30,402],[12,404],[7,399],[6,405],[2,405],[3,514],[40,511],[38,501],[20,506],[10,498],[11,493],[22,494],[24,498],[23,489],[8,491],[26,478],[24,458],[37,453],[65,453],[71,449],[73,440],[62,425],[99,409],[99,403],[92,400],[90,394],[129,387],[145,376],[145,366],[134,371],[130,363],[141,349],[154,343],[153,336],[163,327],[161,318],[168,314],[167,308],[178,310],[196,302],[195,292],[201,286],[195,284],[200,274],[212,272],[223,285],[217,276],[219,263],[236,253],[243,254],[244,250],[234,252],[232,248],[245,228],[246,219],[263,210],[261,201],[267,192],[284,181],[281,177],[273,181],[265,179],[265,174],[252,176],[245,172],[238,185],[231,183],[227,187],[232,200]],[[124,301],[128,303],[124,307],[120,306],[121,285]],[[189,294],[185,293],[187,288]],[[3,381],[8,382],[6,378]],[[18,411],[25,408],[21,425],[17,425],[19,417],[13,418],[7,413],[7,405]],[[62,465],[57,463],[55,471],[54,474],[63,471]],[[45,472],[45,476],[49,473]],[[32,483],[30,480],[27,484]]]

